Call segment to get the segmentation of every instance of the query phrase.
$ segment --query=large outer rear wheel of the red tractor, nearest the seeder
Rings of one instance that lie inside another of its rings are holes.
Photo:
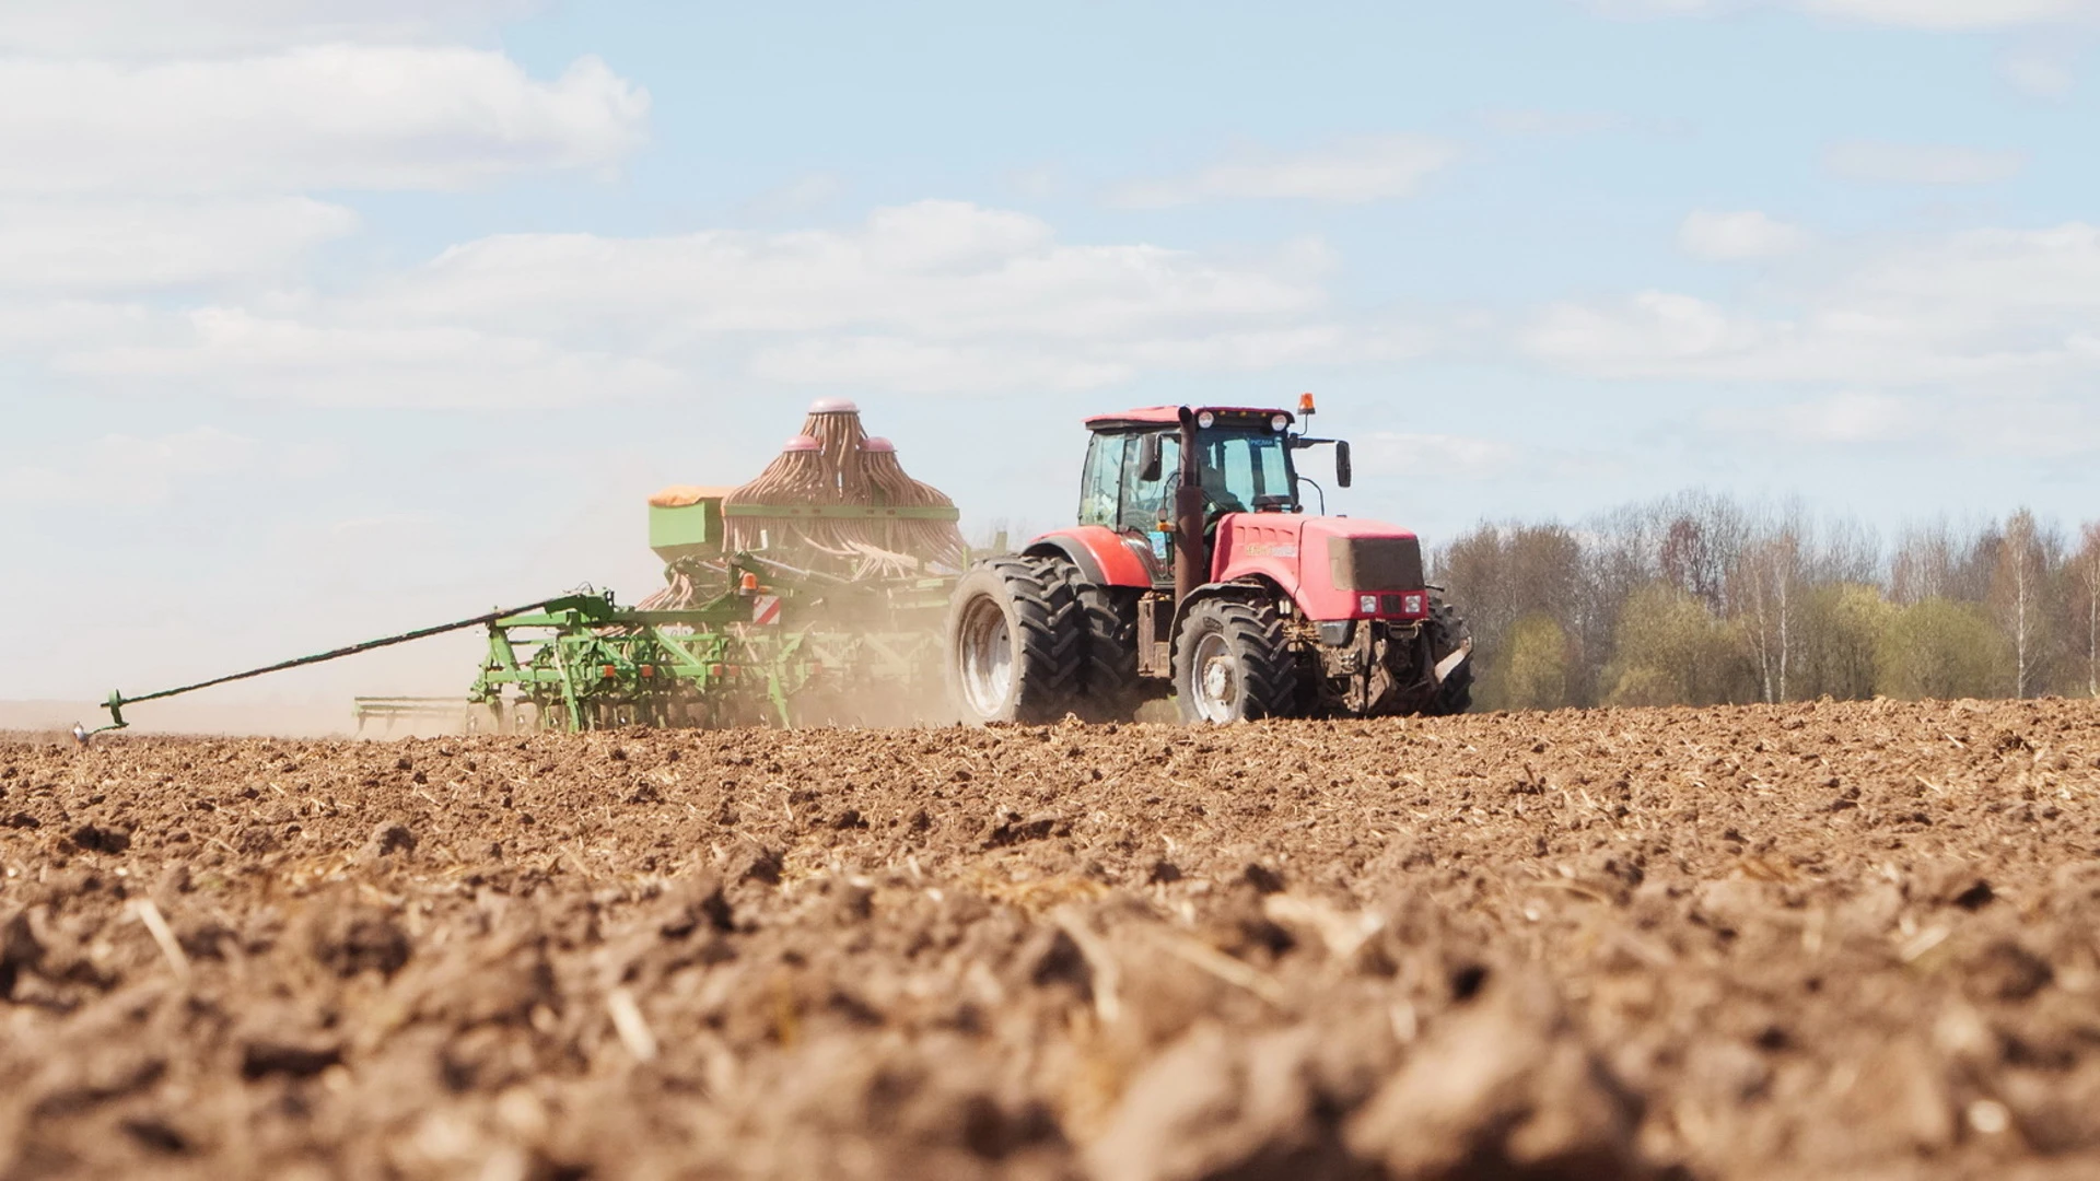
[[[1073,710],[1086,626],[1069,567],[1054,557],[993,557],[956,584],[943,664],[962,721],[1050,723]]]

